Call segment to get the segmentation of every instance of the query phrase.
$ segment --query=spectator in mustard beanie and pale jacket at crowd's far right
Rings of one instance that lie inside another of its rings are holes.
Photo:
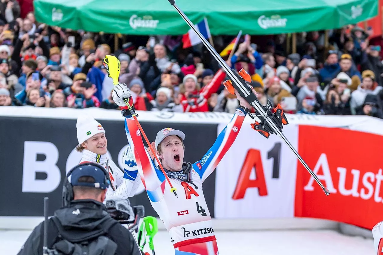
[[[363,106],[367,95],[377,96],[383,89],[383,87],[378,86],[378,83],[375,82],[375,74],[373,71],[363,71],[362,78],[362,83],[360,83],[357,90],[351,93],[350,108],[352,114],[360,112],[360,107]]]

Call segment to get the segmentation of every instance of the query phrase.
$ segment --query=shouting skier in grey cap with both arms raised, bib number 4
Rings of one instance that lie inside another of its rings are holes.
[[[254,89],[253,93],[256,95]],[[170,183],[179,191],[178,197],[169,191],[171,187],[165,181],[164,174],[155,167],[151,155],[145,149],[141,132],[131,112],[123,111],[126,136],[134,153],[138,171],[153,208],[169,231],[175,255],[218,254],[202,183],[213,172],[236,139],[249,111],[249,103],[239,96],[237,91],[236,95],[240,105],[233,118],[202,159],[193,164],[183,162],[185,134],[182,131],[168,127],[157,133],[156,153],[167,177],[170,178]],[[124,102],[126,99],[133,109],[131,93],[125,84],[116,85],[112,96],[121,109],[128,109]]]

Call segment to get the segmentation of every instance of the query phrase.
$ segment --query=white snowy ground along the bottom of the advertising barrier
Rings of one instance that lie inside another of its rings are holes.
[[[17,254],[31,231],[0,231],[0,254]],[[372,239],[351,237],[334,230],[217,231],[220,255],[375,255]],[[154,237],[156,255],[174,254],[169,235]],[[146,250],[145,250],[146,251]]]

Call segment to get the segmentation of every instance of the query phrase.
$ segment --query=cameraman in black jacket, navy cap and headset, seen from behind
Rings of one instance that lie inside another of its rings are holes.
[[[96,163],[83,163],[74,167],[69,172],[69,176],[70,182],[64,181],[62,194],[64,205],[67,205],[56,210],[54,216],[48,219],[47,247],[57,249],[58,242],[61,240],[69,241],[70,245],[80,243],[79,240],[88,240],[90,244],[88,247],[92,247],[95,242],[97,242],[96,247],[100,247],[97,245],[102,243],[94,237],[104,235],[117,244],[115,255],[140,255],[133,235],[111,218],[103,204],[109,186],[106,171]],[[58,226],[56,222],[59,222],[61,226]],[[29,235],[18,255],[43,254],[43,230],[44,222],[41,222]],[[62,238],[59,238],[59,235]],[[102,248],[100,247],[98,252]],[[104,250],[107,251],[107,249]],[[88,255],[92,254],[95,253],[92,253],[90,249]]]

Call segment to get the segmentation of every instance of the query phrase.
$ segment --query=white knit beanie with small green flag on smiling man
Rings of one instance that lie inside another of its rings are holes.
[[[90,116],[82,115],[77,118],[77,140],[79,144],[87,141],[88,138],[95,134],[104,133],[105,130],[95,119]]]

